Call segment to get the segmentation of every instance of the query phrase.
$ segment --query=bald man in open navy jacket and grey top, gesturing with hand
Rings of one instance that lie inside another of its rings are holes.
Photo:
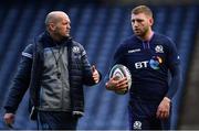
[[[31,118],[39,129],[75,130],[84,113],[83,85],[93,86],[101,79],[90,65],[81,44],[70,37],[71,21],[66,13],[46,15],[46,31],[22,52],[19,69],[4,109],[4,121],[13,123],[14,112],[30,88]]]

